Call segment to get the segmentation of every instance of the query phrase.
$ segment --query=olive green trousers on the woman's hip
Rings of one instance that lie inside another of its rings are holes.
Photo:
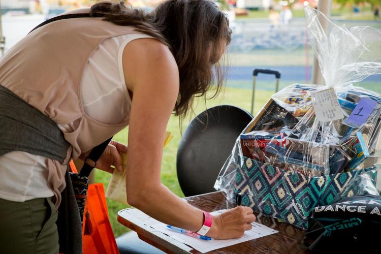
[[[0,253],[58,253],[56,220],[51,198],[0,199]]]

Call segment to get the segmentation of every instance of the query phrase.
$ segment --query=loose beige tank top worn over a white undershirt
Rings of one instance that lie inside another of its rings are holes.
[[[90,55],[104,40],[136,34],[133,27],[118,26],[101,18],[59,20],[42,26],[12,47],[0,59],[0,84],[45,113],[59,125],[71,144],[64,164],[48,160],[48,186],[60,202],[70,155],[102,143],[125,128],[129,113],[108,124],[86,115],[81,100],[82,73]],[[131,104],[126,112],[130,112]]]

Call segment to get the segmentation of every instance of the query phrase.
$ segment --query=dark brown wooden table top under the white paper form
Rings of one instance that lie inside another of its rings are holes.
[[[205,211],[229,209],[234,205],[227,202],[221,192],[184,198],[195,207]],[[149,221],[134,218],[131,213],[135,208],[124,209],[118,212],[118,221],[124,226],[136,231],[143,241],[169,253],[200,253],[189,246],[178,242],[171,237],[149,227]],[[129,215],[130,213],[130,215]],[[251,241],[239,243],[229,247],[212,251],[212,253],[308,253],[308,248],[303,245],[304,231],[290,224],[279,223],[276,219],[257,214],[257,221],[279,233],[261,237]]]

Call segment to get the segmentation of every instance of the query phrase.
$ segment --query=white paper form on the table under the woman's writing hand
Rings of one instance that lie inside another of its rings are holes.
[[[221,213],[225,210],[219,210],[215,212],[211,212],[211,214],[215,215],[218,213]],[[157,221],[157,220],[156,220]],[[152,221],[150,221],[152,223]],[[181,234],[175,231],[172,231],[167,228],[167,225],[164,223],[161,223],[157,221],[156,224],[151,225],[152,228],[165,233],[166,235],[169,235],[173,239],[180,241],[182,243],[185,243],[189,246],[192,246],[194,249],[205,253],[208,251],[212,251],[214,249],[219,249],[227,246],[231,246],[237,243],[249,241],[252,239],[260,238],[263,236],[268,236],[271,234],[278,233],[278,231],[271,229],[269,227],[266,227],[265,225],[259,224],[259,223],[252,223],[252,229],[249,231],[245,231],[244,235],[240,238],[236,239],[228,239],[228,240],[217,240],[217,239],[212,239],[210,241],[206,240],[201,240],[199,238],[193,237],[193,236],[188,236],[186,234]]]

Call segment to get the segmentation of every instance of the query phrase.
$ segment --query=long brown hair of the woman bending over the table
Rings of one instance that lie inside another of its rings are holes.
[[[221,89],[225,71],[218,59],[230,43],[231,29],[225,14],[212,1],[168,0],[151,13],[123,2],[102,2],[91,7],[90,15],[94,13],[106,14],[104,20],[117,25],[134,26],[170,48],[180,77],[175,115],[184,117],[195,96],[205,96],[211,86],[215,85],[211,98]]]

